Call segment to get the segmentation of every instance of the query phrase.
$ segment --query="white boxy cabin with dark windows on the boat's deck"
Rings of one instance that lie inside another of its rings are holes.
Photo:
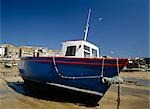
[[[63,42],[61,53],[65,57],[99,58],[99,48],[85,40]]]

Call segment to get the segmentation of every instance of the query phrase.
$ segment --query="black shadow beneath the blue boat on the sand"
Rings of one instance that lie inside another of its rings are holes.
[[[8,82],[10,88],[15,90],[17,93],[25,96],[34,97],[37,99],[75,103],[80,106],[95,107],[99,104],[93,102],[95,99],[99,100],[92,95],[85,93],[79,93],[74,91],[68,91],[58,87],[45,86],[37,84],[24,84],[24,82]]]

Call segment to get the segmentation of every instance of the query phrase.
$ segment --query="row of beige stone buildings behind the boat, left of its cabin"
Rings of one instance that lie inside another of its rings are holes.
[[[20,46],[11,44],[0,45],[0,57],[20,58],[20,57],[50,57],[60,56],[59,50],[49,50],[46,47]]]

